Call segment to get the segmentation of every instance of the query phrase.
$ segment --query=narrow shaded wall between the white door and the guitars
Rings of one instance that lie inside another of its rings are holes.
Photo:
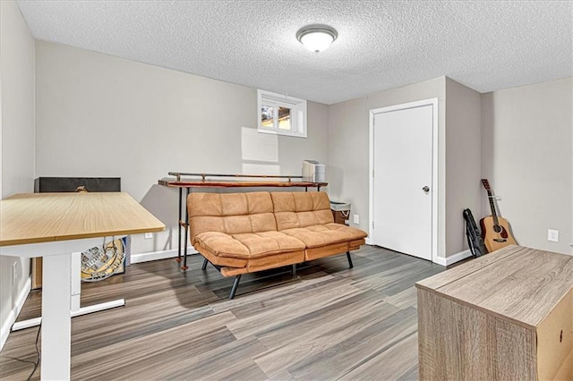
[[[479,224],[482,208],[481,95],[446,79],[446,254],[467,249],[463,211]]]

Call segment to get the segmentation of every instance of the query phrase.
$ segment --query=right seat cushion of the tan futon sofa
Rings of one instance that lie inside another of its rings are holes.
[[[282,230],[280,233],[285,233],[303,241],[307,248],[318,248],[333,243],[361,240],[367,235],[360,229],[334,223],[295,227]]]

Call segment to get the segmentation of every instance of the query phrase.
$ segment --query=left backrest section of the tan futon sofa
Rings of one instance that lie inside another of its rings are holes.
[[[187,197],[189,232],[227,234],[276,231],[269,192],[190,193]]]

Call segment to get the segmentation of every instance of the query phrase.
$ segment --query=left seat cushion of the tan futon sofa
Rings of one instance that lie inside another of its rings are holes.
[[[215,257],[261,258],[290,251],[304,250],[304,242],[285,233],[260,232],[227,234],[203,232],[195,236],[195,243],[209,250]]]

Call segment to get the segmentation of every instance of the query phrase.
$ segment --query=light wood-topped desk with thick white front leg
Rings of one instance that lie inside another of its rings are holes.
[[[164,229],[124,192],[16,194],[0,201],[0,255],[44,258],[42,379],[70,378],[71,253],[101,244],[102,237]]]

